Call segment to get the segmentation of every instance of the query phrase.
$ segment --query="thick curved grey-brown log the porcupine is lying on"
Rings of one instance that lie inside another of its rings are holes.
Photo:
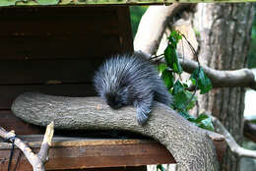
[[[26,122],[39,126],[54,121],[55,129],[112,129],[140,133],[165,145],[176,160],[178,171],[219,170],[216,150],[208,133],[158,102],[143,127],[137,123],[134,107],[112,110],[99,97],[27,92],[16,98],[12,111]]]

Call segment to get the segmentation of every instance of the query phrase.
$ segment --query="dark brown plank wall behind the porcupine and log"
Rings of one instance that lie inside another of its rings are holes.
[[[128,7],[0,9],[0,126],[17,134],[40,129],[16,118],[12,101],[25,91],[96,95],[103,58],[133,51]]]

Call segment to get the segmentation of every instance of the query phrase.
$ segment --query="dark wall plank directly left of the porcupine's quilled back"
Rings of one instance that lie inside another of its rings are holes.
[[[0,85],[92,83],[103,59],[0,60]]]

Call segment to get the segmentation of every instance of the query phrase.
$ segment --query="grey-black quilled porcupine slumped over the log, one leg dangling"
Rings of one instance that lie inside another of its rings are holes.
[[[156,66],[141,55],[107,59],[96,71],[94,84],[98,95],[111,108],[134,105],[141,125],[148,120],[154,100],[166,105],[172,101]]]

